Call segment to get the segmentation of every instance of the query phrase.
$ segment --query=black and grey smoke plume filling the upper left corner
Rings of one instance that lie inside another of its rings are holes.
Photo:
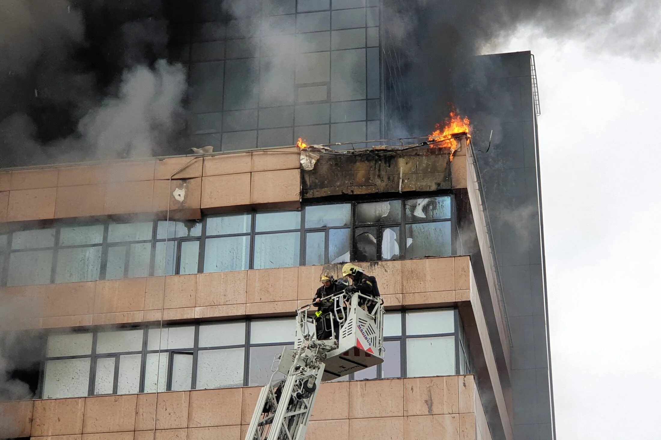
[[[185,73],[160,1],[4,0],[0,166],[167,154]]]

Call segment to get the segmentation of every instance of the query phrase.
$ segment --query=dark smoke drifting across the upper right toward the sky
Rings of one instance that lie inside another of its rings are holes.
[[[594,53],[658,57],[656,0],[383,0],[381,23],[387,135],[420,135],[459,110],[498,113],[506,92],[494,76],[511,75],[498,57],[476,59],[519,30]]]

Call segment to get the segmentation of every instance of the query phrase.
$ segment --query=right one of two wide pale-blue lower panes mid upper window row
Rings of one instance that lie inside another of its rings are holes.
[[[254,237],[254,268],[299,265],[301,233],[258,234]]]

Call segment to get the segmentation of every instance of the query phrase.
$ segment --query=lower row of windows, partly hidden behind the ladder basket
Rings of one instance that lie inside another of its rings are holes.
[[[52,332],[42,398],[264,385],[276,356],[293,348],[294,329],[284,318]],[[383,336],[383,363],[338,380],[472,371],[455,309],[386,313]]]

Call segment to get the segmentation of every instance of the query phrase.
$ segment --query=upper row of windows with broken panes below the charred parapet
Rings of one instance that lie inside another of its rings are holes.
[[[0,286],[447,256],[452,217],[444,195],[200,221],[63,222],[0,235]]]

